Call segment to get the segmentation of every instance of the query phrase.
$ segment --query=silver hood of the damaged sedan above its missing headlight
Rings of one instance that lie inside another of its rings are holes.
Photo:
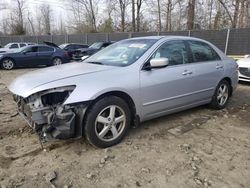
[[[114,69],[112,66],[90,63],[69,63],[41,70],[32,71],[17,77],[10,85],[9,90],[19,96],[28,97],[27,93],[36,87],[72,77],[79,77],[100,71]],[[73,85],[74,83],[72,83]],[[50,89],[50,88],[48,88]]]

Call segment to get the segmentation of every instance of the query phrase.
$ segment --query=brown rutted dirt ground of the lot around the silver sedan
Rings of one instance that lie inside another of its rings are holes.
[[[0,70],[2,187],[250,187],[250,84],[239,85],[225,110],[202,106],[148,121],[110,149],[82,139],[42,150],[6,87],[31,70]]]

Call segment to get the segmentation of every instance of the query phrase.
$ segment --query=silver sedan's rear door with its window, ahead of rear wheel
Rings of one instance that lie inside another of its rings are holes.
[[[189,40],[187,43],[192,54],[191,64],[196,75],[193,84],[196,90],[195,97],[198,100],[209,100],[218,82],[223,78],[223,63],[209,44],[195,40]]]

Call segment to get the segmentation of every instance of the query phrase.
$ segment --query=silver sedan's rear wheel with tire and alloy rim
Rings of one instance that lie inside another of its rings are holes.
[[[227,80],[222,80],[216,87],[214,96],[209,106],[213,109],[221,110],[225,108],[230,97],[230,84]]]

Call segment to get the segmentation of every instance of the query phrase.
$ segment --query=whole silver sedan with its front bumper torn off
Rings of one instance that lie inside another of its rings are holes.
[[[9,90],[44,141],[119,143],[140,122],[209,104],[226,106],[237,64],[211,43],[177,36],[122,40],[81,63],[30,72]]]

